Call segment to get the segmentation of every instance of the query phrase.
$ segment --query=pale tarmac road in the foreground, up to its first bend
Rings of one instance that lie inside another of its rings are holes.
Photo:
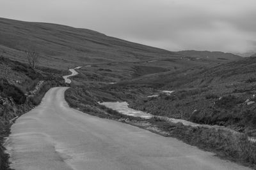
[[[67,89],[50,89],[12,125],[5,146],[13,169],[249,169],[175,138],[74,110],[65,101]]]

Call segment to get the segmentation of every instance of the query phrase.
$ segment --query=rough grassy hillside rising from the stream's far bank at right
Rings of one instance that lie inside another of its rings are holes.
[[[143,90],[144,94],[135,97],[135,100],[130,99],[131,106],[154,115],[252,132],[252,129],[256,129],[252,114],[256,107],[253,103],[256,101],[255,69],[256,58],[252,57],[207,69],[147,74],[122,81],[110,90],[118,93],[120,89],[150,89],[148,92]],[[175,92],[168,96],[162,94],[161,90]],[[159,97],[147,97],[152,94],[159,94]]]

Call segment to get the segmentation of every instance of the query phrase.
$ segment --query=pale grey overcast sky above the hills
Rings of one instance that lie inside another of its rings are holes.
[[[0,0],[0,17],[93,29],[172,51],[256,51],[256,0]]]

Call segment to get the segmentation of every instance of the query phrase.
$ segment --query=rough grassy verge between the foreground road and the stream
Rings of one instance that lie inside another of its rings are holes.
[[[191,127],[180,123],[174,124],[159,118],[146,120],[129,117],[115,110],[100,106],[89,90],[79,87],[68,89],[65,92],[65,99],[72,108],[81,110],[84,113],[125,122],[166,137],[177,138],[189,145],[214,152],[223,159],[256,168],[256,145],[250,143],[248,136],[245,134],[234,133],[225,129]]]

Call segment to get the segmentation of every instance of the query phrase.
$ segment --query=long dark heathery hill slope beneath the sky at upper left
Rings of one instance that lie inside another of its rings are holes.
[[[42,65],[58,67],[179,56],[88,29],[0,18],[0,52],[24,61],[24,50],[38,52]]]

